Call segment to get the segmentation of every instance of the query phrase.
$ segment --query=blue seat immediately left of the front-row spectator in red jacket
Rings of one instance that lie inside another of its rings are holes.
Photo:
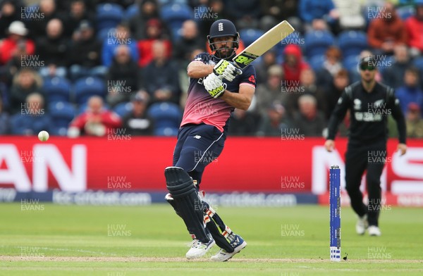
[[[49,115],[51,116],[51,134],[65,136],[68,125],[75,117],[75,108],[67,101],[56,101],[49,104]]]

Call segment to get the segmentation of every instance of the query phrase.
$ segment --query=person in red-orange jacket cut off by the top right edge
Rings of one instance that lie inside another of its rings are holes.
[[[423,0],[415,1],[416,14],[405,21],[407,29],[407,45],[410,46],[410,54],[419,56],[423,54]]]

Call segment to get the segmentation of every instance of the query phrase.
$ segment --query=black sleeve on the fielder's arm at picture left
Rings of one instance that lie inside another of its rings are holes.
[[[329,119],[328,136],[326,139],[335,139],[336,132],[338,132],[338,126],[343,121],[345,113],[347,113],[348,107],[350,106],[352,96],[349,95],[352,93],[351,87],[346,87],[343,94],[339,97],[338,103],[336,103],[335,109]]]

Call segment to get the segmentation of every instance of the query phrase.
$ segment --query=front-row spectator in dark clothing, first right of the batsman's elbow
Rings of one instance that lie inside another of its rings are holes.
[[[289,127],[285,117],[285,108],[280,103],[269,106],[267,114],[262,117],[257,136],[281,137]]]

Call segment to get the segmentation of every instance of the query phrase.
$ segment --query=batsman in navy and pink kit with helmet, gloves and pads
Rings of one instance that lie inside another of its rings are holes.
[[[204,168],[223,150],[231,113],[235,108],[249,108],[256,77],[252,66],[242,71],[231,63],[240,39],[231,21],[216,20],[207,39],[212,54],[195,56],[187,68],[190,86],[173,166],[164,170],[166,201],[191,234],[186,258],[200,258],[217,244],[221,249],[211,260],[228,261],[247,243],[200,196],[200,184]]]

